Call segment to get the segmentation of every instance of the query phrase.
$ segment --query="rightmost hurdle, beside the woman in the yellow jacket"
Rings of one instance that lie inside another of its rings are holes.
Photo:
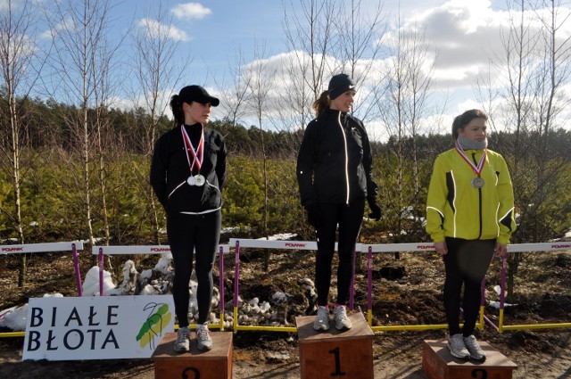
[[[562,243],[517,243],[508,245],[508,253],[512,252],[525,252],[525,251],[565,251],[571,250],[571,242]],[[504,292],[506,288],[506,258],[501,260],[501,293],[500,293],[500,318],[498,331],[502,333],[504,330],[519,330],[519,329],[551,329],[561,327],[571,327],[571,323],[558,323],[558,324],[521,324],[521,325],[504,325],[503,324],[503,311],[505,305]]]

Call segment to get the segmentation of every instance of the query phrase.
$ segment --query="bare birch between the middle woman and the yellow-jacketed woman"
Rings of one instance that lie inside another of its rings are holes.
[[[385,186],[385,197],[388,197],[385,202],[390,204],[385,215],[393,228],[395,242],[399,242],[401,230],[407,229],[405,221],[410,218],[417,220],[418,215],[424,212],[424,207],[418,204],[417,139],[423,117],[434,111],[428,105],[428,99],[436,53],[429,49],[424,30],[418,25],[404,29],[399,21],[395,36],[389,41],[391,59],[385,88],[380,89],[376,98],[379,117],[391,136],[389,144],[393,157],[389,157],[389,161],[394,161],[395,166],[386,169],[387,174],[394,176],[387,177],[387,182],[396,185]],[[406,175],[410,171],[411,177]]]

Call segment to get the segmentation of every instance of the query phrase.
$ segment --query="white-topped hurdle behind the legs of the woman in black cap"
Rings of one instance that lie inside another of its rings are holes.
[[[224,253],[230,251],[228,244],[220,244],[219,250],[219,311],[220,320],[218,325],[209,325],[209,327],[224,330]],[[93,246],[92,254],[98,256],[99,262],[99,295],[103,296],[103,257],[104,255],[136,255],[136,254],[164,254],[170,252],[168,245],[147,245],[147,246]],[[175,325],[178,328],[178,325]],[[195,324],[189,327],[196,327]]]

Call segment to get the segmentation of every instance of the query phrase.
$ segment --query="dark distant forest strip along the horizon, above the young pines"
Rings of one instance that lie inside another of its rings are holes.
[[[5,107],[5,91],[0,89],[0,107]],[[55,103],[53,100],[46,102],[40,99],[23,98],[18,99],[18,109],[25,110],[21,114],[21,121],[25,125],[21,134],[21,144],[34,149],[63,149],[73,152],[71,147],[77,144],[77,136],[69,128],[66,119],[72,119],[79,109],[72,105]],[[89,109],[88,119],[95,119],[97,110]],[[6,114],[7,111],[2,111]],[[109,139],[107,148],[109,150],[120,149],[124,152],[135,154],[146,154],[145,134],[147,126],[152,122],[151,115],[142,108],[136,111],[123,111],[119,109],[104,110],[105,113],[105,134]],[[7,119],[0,119],[0,127],[7,130]],[[157,125],[156,134],[160,136],[170,128],[173,128],[173,121],[166,115],[162,115],[155,120]],[[235,123],[229,119],[215,119],[209,122],[210,128],[218,130],[226,139],[228,152],[230,154],[244,154],[253,157],[263,155],[271,159],[292,158],[302,141],[303,127],[296,131],[272,130],[271,128],[259,128],[254,125],[246,127],[240,123]],[[367,125],[365,125],[367,127]],[[89,134],[95,134],[95,126],[89,125]],[[442,129],[442,128],[429,128]],[[446,128],[444,128],[446,129]],[[525,149],[533,153],[534,144],[539,144],[542,139],[538,131],[520,132],[516,135],[513,132],[492,131],[488,135],[489,147],[497,152],[511,154],[518,139],[520,144],[527,146]],[[263,141],[263,143],[262,143]],[[417,136],[403,136],[399,140],[398,136],[389,136],[384,141],[371,141],[371,148],[374,154],[385,154],[398,150],[398,145],[408,159],[412,159],[411,153],[416,149],[418,159],[434,159],[436,154],[453,147],[451,134],[434,134]],[[550,131],[547,136],[548,156],[545,158],[559,156],[569,161],[571,160],[571,131],[559,128]],[[262,151],[263,147],[263,151]]]

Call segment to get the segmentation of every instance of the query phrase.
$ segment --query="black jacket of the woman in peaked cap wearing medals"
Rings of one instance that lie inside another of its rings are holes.
[[[201,125],[185,125],[194,147],[198,145]],[[192,153],[190,153],[192,162]],[[154,145],[151,185],[167,213],[201,213],[222,206],[222,187],[226,183],[226,145],[216,130],[204,128],[204,158],[200,174],[206,178],[201,186],[188,185],[190,168],[180,127],[163,134]],[[198,174],[194,169],[193,175]]]

